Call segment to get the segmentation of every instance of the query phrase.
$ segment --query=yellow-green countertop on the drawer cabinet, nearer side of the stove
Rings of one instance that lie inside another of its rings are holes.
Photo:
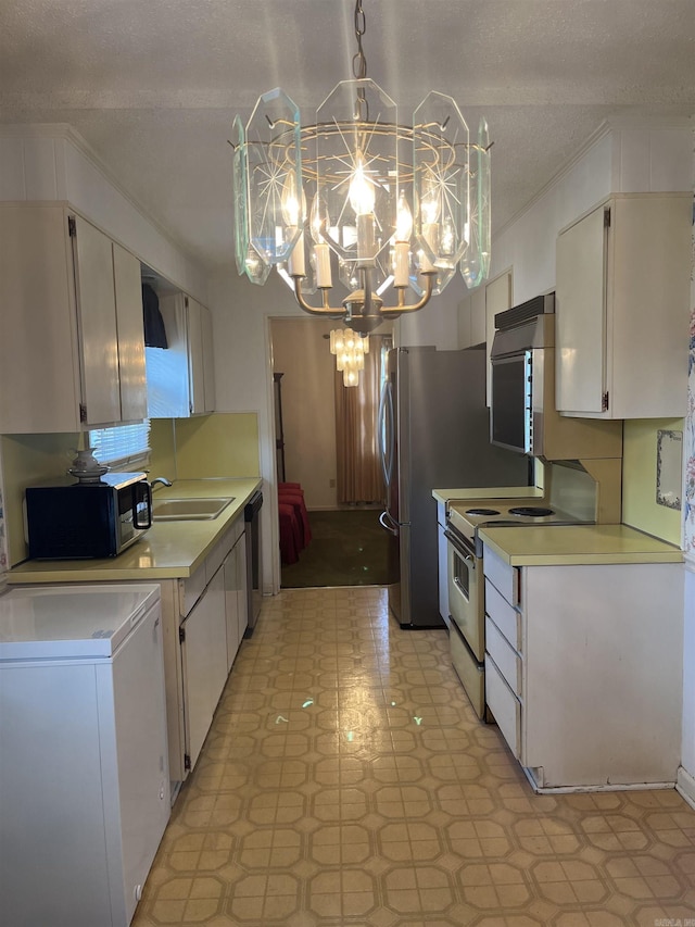
[[[627,525],[489,527],[479,537],[511,566],[683,561],[680,548]]]

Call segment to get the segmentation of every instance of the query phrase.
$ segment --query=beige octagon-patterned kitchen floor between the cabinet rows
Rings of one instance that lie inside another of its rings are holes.
[[[134,927],[695,927],[675,791],[535,796],[445,631],[286,590],[242,643]]]

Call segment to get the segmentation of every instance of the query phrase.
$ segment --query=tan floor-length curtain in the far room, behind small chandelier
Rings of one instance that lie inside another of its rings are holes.
[[[381,349],[386,340],[384,336],[369,336],[369,353],[365,354],[365,368],[359,372],[358,386],[343,386],[342,373],[336,373],[339,502],[383,501],[377,416],[381,393]]]

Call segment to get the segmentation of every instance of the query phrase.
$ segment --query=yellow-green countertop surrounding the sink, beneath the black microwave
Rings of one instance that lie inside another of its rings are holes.
[[[217,518],[154,522],[146,535],[118,556],[105,560],[24,561],[7,574],[8,584],[186,578],[202,564],[225,530],[237,518],[243,517],[243,506],[261,485],[260,477],[249,477],[182,479],[176,480],[172,487],[155,488],[155,499],[233,496],[235,500]]]

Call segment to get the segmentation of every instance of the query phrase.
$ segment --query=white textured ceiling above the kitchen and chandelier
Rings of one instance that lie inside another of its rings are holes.
[[[500,228],[616,115],[695,114],[695,0],[363,0],[368,76],[488,117]],[[305,120],[355,53],[353,0],[0,0],[0,122],[68,123],[210,266],[232,261],[231,121]]]

